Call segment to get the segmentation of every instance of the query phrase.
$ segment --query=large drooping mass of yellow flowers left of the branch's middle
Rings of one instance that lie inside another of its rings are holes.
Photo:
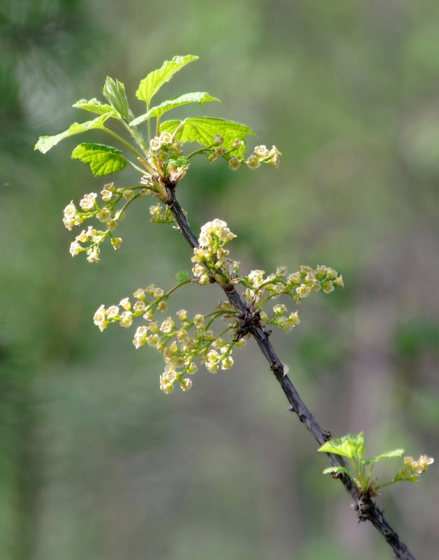
[[[186,310],[180,310],[175,317],[168,316],[157,320],[156,312],[167,310],[168,296],[181,285],[190,282],[184,280],[169,292],[154,285],[134,292],[134,299],[124,298],[118,306],[106,308],[101,305],[94,314],[94,324],[104,331],[111,323],[118,322],[125,329],[133,324],[134,319],[142,317],[145,324],[136,329],[133,338],[134,347],[143,345],[154,347],[164,357],[164,372],[160,376],[160,389],[168,394],[173,391],[176,382],[183,391],[192,387],[192,380],[187,375],[198,371],[196,360],[203,364],[210,373],[217,373],[219,368],[229,370],[233,366],[233,347],[243,347],[244,340],[225,340],[226,333],[233,334],[234,325],[229,318],[233,309],[222,304],[213,313],[194,315],[189,319]],[[149,301],[147,301],[149,299]],[[227,324],[222,331],[214,334],[213,323],[226,318]]]

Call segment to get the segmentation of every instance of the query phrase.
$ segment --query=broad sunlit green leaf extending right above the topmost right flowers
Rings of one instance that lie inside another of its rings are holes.
[[[245,124],[213,117],[189,117],[184,121],[166,120],[161,123],[160,132],[173,134],[177,127],[179,127],[177,138],[183,143],[197,142],[203,146],[211,146],[213,138],[219,134],[224,138],[224,148],[232,150],[233,141],[238,138],[244,144],[238,150],[233,151],[233,155],[237,156],[242,156],[245,152],[245,136],[256,136],[252,129],[246,127]]]

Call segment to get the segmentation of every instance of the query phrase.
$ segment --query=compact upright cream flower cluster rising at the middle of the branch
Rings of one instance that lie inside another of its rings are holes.
[[[229,250],[224,245],[236,235],[232,234],[226,222],[213,220],[201,227],[199,247],[194,248],[192,273],[199,284],[210,282],[209,274],[220,284],[229,282],[238,271],[239,262],[229,259]]]

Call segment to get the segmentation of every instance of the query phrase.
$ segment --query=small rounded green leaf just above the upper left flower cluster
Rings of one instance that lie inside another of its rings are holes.
[[[89,164],[95,177],[117,173],[127,165],[127,160],[117,148],[91,142],[76,146],[71,158],[79,159],[83,164]]]

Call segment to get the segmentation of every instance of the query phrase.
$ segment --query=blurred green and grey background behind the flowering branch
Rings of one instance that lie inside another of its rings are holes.
[[[393,557],[321,474],[254,343],[232,371],[164,396],[157,352],[117,326],[99,333],[101,303],[169,287],[189,247],[145,201],[119,252],[72,259],[62,210],[106,180],[71,161],[84,136],[33,148],[87,120],[71,104],[101,97],[107,74],[140,113],[141,78],[199,55],[164,95],[218,96],[194,110],[248,124],[283,158],[239,173],[200,162],[180,191],[192,226],[226,220],[249,269],[343,273],[345,289],[303,302],[301,326],[273,345],[334,436],[364,430],[370,454],[438,461],[438,29],[433,0],[1,2],[1,559]],[[220,297],[192,287],[175,309]],[[438,557],[436,464],[378,501],[418,559]]]

